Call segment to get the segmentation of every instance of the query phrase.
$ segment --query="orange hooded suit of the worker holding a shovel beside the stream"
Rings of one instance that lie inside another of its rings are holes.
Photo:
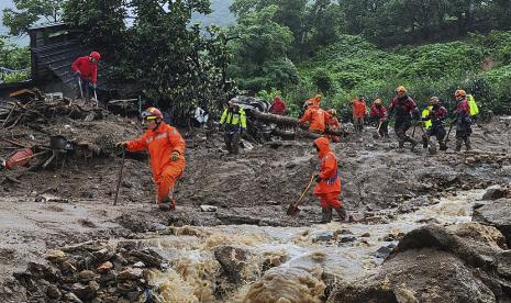
[[[337,158],[330,148],[330,142],[325,137],[316,138],[315,145],[320,149],[318,156],[321,159],[321,181],[314,188],[314,194],[320,197],[321,207],[341,209],[343,203],[338,200],[341,194],[341,178],[337,169]]]

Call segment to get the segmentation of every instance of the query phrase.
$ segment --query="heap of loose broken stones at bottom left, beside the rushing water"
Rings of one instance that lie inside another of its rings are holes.
[[[14,277],[30,300],[44,302],[153,302],[152,269],[168,262],[151,248],[123,242],[115,248],[99,242],[49,250],[48,265],[30,262]]]

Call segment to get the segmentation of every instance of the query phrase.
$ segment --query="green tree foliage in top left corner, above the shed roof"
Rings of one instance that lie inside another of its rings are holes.
[[[15,10],[3,9],[2,22],[9,34],[21,36],[37,22],[60,21],[63,5],[67,0],[14,0]]]

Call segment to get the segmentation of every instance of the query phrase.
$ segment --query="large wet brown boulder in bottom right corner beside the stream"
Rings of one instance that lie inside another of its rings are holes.
[[[376,273],[337,284],[327,302],[507,302],[509,251],[501,240],[477,223],[414,229]]]

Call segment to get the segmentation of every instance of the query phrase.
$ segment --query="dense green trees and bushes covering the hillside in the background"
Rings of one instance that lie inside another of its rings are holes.
[[[118,80],[136,80],[179,116],[197,104],[219,108],[236,88],[279,92],[292,112],[321,92],[346,112],[355,96],[389,100],[398,85],[419,102],[436,94],[447,103],[465,88],[485,108],[511,113],[508,0],[229,0],[236,23],[208,30],[191,22],[210,12],[208,0],[15,3],[19,12],[3,19],[12,34],[37,18],[71,22],[114,60]]]

